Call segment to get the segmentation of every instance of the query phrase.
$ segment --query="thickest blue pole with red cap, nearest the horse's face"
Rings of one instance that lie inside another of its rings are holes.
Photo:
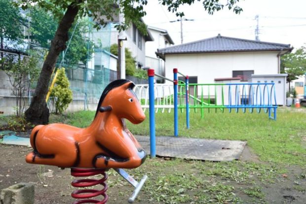
[[[149,111],[150,111],[150,157],[156,157],[155,149],[155,110],[154,110],[154,69],[148,69],[149,76]]]

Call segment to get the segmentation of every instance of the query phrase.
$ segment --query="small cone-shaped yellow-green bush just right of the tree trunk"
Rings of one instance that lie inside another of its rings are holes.
[[[72,91],[69,88],[70,83],[65,73],[65,68],[58,70],[55,87],[52,89],[50,97],[53,106],[55,106],[55,114],[62,113],[72,102]]]

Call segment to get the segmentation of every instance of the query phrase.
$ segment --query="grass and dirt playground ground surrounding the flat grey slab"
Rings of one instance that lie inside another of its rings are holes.
[[[206,113],[206,112],[205,112]],[[200,119],[191,114],[191,129],[180,114],[179,135],[247,141],[240,161],[202,162],[170,158],[147,159],[129,170],[147,180],[135,203],[206,204],[275,203],[305,204],[306,201],[306,112],[279,108],[276,121],[267,114],[207,113]],[[78,112],[52,121],[87,126],[94,112]],[[156,115],[156,134],[173,134],[172,114]],[[148,121],[128,124],[132,133],[148,135]],[[36,204],[72,203],[70,170],[29,165],[24,162],[31,148],[0,145],[0,189],[19,182],[36,185]],[[133,188],[114,170],[109,171],[109,204],[127,203]]]

